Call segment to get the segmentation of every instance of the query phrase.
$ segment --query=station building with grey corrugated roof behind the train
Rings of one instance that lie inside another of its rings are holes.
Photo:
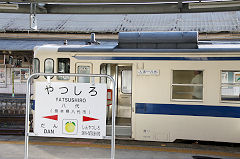
[[[0,13],[0,94],[26,93],[33,49],[44,44],[117,43],[119,32],[198,31],[199,40],[240,39],[240,11],[182,14],[39,14],[31,30],[29,14]]]

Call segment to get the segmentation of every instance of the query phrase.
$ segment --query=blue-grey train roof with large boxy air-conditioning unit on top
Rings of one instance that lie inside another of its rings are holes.
[[[122,32],[118,43],[101,45],[91,35],[90,45],[65,45],[58,52],[240,52],[240,42],[201,42],[198,32]]]

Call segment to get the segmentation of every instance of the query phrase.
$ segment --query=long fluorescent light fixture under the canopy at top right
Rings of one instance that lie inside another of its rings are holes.
[[[189,9],[240,7],[240,2],[199,2],[189,3]]]

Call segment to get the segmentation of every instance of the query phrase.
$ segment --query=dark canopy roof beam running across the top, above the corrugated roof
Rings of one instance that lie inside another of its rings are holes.
[[[16,0],[17,1],[17,0]],[[37,1],[37,0],[36,0]],[[42,1],[42,0],[40,0]],[[240,2],[153,3],[153,4],[50,4],[38,3],[36,14],[162,14],[239,11]],[[30,3],[1,7],[0,13],[30,13]]]

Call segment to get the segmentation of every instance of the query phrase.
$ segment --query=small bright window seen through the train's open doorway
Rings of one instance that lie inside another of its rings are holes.
[[[122,71],[122,93],[132,93],[132,71]]]

